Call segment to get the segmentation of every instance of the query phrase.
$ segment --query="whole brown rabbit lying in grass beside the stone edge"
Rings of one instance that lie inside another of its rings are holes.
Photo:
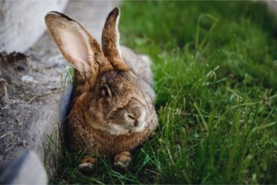
[[[67,62],[75,68],[66,141],[73,151],[85,151],[80,170],[95,168],[97,156],[114,157],[127,168],[132,151],[158,125],[150,59],[119,46],[119,8],[109,12],[102,47],[77,21],[48,12],[46,26]]]

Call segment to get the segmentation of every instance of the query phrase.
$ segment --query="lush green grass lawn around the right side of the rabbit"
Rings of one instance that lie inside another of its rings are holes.
[[[157,132],[126,171],[64,150],[55,184],[277,184],[277,21],[252,1],[124,1],[121,42],[153,60]]]

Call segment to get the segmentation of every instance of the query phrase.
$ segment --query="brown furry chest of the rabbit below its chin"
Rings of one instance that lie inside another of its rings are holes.
[[[67,134],[70,136],[71,149],[75,151],[86,150],[87,155],[96,153],[104,157],[111,157],[120,152],[132,151],[148,139],[151,133],[150,128],[145,128],[145,130],[137,133],[109,134],[88,127],[89,125],[85,123],[84,118],[80,118],[80,114],[82,115],[82,112],[78,110],[78,107],[71,111],[68,125],[68,129],[71,131],[68,131]]]

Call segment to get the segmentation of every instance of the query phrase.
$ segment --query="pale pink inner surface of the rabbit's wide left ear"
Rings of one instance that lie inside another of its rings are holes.
[[[89,60],[93,53],[89,47],[89,37],[78,24],[73,21],[65,24],[60,22],[55,36],[64,57],[73,67],[80,72],[91,70]]]

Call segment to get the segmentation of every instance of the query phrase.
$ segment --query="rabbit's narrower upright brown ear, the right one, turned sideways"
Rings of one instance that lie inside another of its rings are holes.
[[[120,10],[117,7],[109,13],[102,30],[102,51],[115,69],[126,70],[127,65],[122,60],[119,48],[119,17]]]

